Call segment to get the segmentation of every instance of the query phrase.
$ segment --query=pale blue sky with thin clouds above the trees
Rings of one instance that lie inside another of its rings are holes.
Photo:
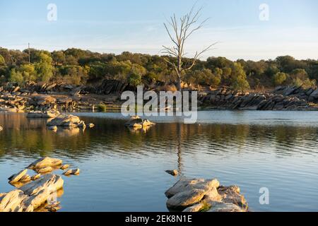
[[[49,4],[57,20],[48,20]],[[163,23],[194,5],[208,20],[186,43],[187,57],[217,42],[204,59],[318,59],[317,0],[0,0],[0,47],[162,54],[172,45]]]

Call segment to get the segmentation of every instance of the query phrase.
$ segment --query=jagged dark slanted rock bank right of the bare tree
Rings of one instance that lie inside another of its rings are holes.
[[[278,87],[269,93],[221,88],[199,93],[201,109],[317,111],[318,89]]]

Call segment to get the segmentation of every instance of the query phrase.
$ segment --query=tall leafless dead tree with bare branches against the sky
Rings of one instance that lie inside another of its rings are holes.
[[[192,10],[186,15],[179,18],[179,20],[176,18],[174,14],[170,17],[170,20],[167,20],[167,23],[164,23],[165,30],[167,30],[167,34],[169,35],[173,46],[163,46],[163,53],[168,54],[170,57],[177,58],[177,63],[175,63],[174,60],[168,58],[164,59],[168,64],[170,64],[170,66],[173,67],[173,69],[177,73],[177,89],[179,91],[182,90],[181,83],[184,73],[191,70],[196,64],[196,61],[201,57],[201,55],[204,54],[204,52],[211,49],[211,47],[213,47],[214,44],[216,44],[213,43],[208,47],[204,48],[201,52],[196,52],[194,54],[194,58],[192,59],[192,63],[189,65],[184,64],[183,59],[186,55],[186,53],[184,53],[185,42],[194,32],[196,32],[196,30],[202,28],[204,23],[206,23],[206,20],[208,20],[206,19],[203,22],[199,23],[199,25],[197,24],[201,16],[201,10],[202,8],[199,8],[198,11],[194,11],[194,7],[192,7]],[[170,28],[168,28],[169,25]]]

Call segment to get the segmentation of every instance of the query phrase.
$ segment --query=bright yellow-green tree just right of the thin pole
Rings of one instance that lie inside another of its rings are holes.
[[[53,76],[52,58],[41,52],[39,54],[40,61],[35,64],[35,71],[37,72],[38,81],[49,81]]]

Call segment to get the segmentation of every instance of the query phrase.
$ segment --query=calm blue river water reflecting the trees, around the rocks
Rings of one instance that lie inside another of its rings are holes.
[[[177,178],[218,178],[241,187],[252,210],[318,211],[318,112],[199,112],[197,124],[154,118],[129,131],[116,113],[78,113],[94,129],[46,129],[45,119],[0,114],[0,192],[7,178],[41,156],[79,167],[64,177],[61,211],[167,211],[164,192]],[[259,204],[259,189],[270,204]]]

